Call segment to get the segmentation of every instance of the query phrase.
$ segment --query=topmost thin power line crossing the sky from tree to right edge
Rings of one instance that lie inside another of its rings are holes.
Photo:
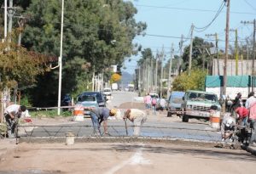
[[[185,11],[198,11],[198,12],[214,12],[215,10],[211,9],[200,9],[200,8],[172,8],[172,7],[162,7],[162,6],[153,6],[153,5],[136,5],[138,7],[146,7],[146,8],[166,8],[166,9],[177,9],[177,10],[185,10]],[[223,12],[222,12],[223,13]],[[230,12],[231,14],[252,14],[255,15],[256,13],[249,13],[249,12]]]

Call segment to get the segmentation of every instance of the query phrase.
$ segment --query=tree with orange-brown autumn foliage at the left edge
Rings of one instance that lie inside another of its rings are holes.
[[[0,42],[1,90],[5,87],[26,88],[44,74],[49,57],[33,53],[15,43]]]

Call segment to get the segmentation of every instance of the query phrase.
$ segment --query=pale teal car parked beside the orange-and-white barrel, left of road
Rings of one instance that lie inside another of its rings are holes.
[[[99,104],[96,99],[96,95],[92,93],[83,93],[77,98],[77,104],[82,104],[84,107],[96,108],[99,107]],[[87,108],[84,108],[84,115],[90,115],[90,111]]]

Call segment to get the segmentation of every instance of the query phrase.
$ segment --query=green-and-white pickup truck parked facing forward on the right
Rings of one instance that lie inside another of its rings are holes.
[[[218,97],[214,93],[189,90],[185,93],[183,100],[183,122],[188,122],[189,118],[208,120],[210,109],[215,108],[221,110]]]

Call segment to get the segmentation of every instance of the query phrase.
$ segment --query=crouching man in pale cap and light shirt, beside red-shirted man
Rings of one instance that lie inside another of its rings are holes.
[[[229,112],[224,114],[224,119],[221,123],[220,131],[222,140],[230,139],[235,131],[236,121]]]

